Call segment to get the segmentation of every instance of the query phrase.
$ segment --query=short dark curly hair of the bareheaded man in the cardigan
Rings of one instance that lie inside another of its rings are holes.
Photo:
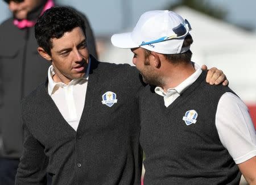
[[[51,39],[59,39],[76,27],[80,27],[85,35],[85,23],[80,15],[67,7],[52,7],[35,24],[36,41],[51,56]]]

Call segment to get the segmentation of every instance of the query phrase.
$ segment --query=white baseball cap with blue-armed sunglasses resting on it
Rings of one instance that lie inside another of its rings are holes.
[[[132,32],[114,34],[112,44],[118,48],[142,47],[162,54],[188,51],[183,41],[192,28],[187,19],[168,10],[147,11],[141,15]]]

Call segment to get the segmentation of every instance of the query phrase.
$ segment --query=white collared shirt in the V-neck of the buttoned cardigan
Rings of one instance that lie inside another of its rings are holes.
[[[61,115],[75,131],[77,131],[82,111],[84,110],[89,71],[90,60],[85,76],[79,79],[72,79],[66,85],[63,82],[56,83],[53,81],[52,77],[55,75],[53,66],[49,66],[48,69],[48,94],[56,104]]]

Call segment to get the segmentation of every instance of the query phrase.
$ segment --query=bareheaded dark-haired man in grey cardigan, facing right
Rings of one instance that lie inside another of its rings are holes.
[[[65,7],[47,10],[35,37],[52,65],[22,102],[16,184],[45,184],[46,172],[53,184],[140,184],[137,70],[89,55],[83,20]]]

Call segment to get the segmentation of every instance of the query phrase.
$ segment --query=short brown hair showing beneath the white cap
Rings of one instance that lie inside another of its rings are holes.
[[[188,34],[183,42],[182,48],[189,47],[193,43],[192,36]],[[145,49],[146,54],[145,56],[149,56],[151,54],[151,51]],[[164,54],[167,60],[171,61],[172,64],[177,64],[178,62],[190,62],[192,57],[192,52],[190,49],[188,49],[187,52],[179,53],[179,54]]]

